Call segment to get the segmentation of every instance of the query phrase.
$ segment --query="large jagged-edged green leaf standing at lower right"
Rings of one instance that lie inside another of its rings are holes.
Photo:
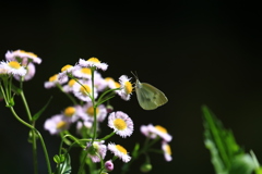
[[[222,122],[206,107],[202,107],[204,142],[211,152],[211,161],[216,174],[250,174],[254,163],[235,140],[231,130],[224,128]]]

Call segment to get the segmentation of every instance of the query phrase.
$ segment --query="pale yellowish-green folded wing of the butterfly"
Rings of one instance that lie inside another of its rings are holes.
[[[139,103],[144,110],[154,110],[168,101],[163,91],[146,83],[140,83],[135,92]]]

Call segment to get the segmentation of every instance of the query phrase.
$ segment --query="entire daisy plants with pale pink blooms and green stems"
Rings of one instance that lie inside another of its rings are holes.
[[[33,52],[23,50],[8,51],[5,53],[5,61],[0,62],[0,98],[3,96],[7,107],[11,108],[12,113],[17,121],[31,128],[31,137],[33,146],[36,146],[36,140],[41,140],[41,146],[45,152],[48,173],[51,174],[50,162],[46,146],[40,133],[35,127],[35,122],[41,114],[41,110],[36,115],[31,115],[28,104],[24,97],[22,88],[14,87],[12,77],[22,83],[29,80],[35,75],[35,64],[40,64],[41,59]],[[120,159],[124,162],[126,170],[129,169],[129,162],[135,160],[140,154],[146,154],[146,150],[152,150],[153,144],[145,144],[144,148],[135,148],[132,156],[128,150],[109,140],[114,135],[122,138],[130,137],[134,132],[134,124],[131,117],[123,111],[114,111],[109,100],[115,96],[119,96],[122,100],[130,100],[133,92],[133,85],[131,77],[121,75],[118,80],[112,77],[103,77],[99,71],[105,72],[108,69],[107,63],[100,62],[97,58],[90,58],[88,60],[79,59],[75,65],[67,64],[60,72],[53,74],[48,80],[44,83],[46,89],[58,88],[72,102],[70,105],[62,108],[58,113],[48,117],[44,123],[44,128],[50,135],[60,135],[61,144],[59,154],[53,157],[58,164],[55,173],[70,173],[70,157],[69,151],[72,147],[82,148],[81,163],[88,165],[93,173],[108,173],[114,170],[114,161]],[[11,79],[11,80],[9,80]],[[3,83],[2,83],[3,82]],[[21,94],[24,105],[28,114],[28,121],[23,121],[14,111],[12,92]],[[45,109],[45,108],[44,108]],[[107,126],[111,132],[104,137],[100,137],[103,130],[103,123],[107,122]],[[76,135],[72,134],[72,128]],[[171,150],[168,142],[171,136],[162,126],[142,125],[141,132],[147,137],[147,140],[162,139],[162,150],[167,161],[171,161]],[[147,141],[148,142],[148,141]],[[64,146],[68,148],[64,148]],[[36,149],[35,147],[33,149]],[[110,151],[112,157],[107,157]],[[155,150],[156,151],[156,150]],[[36,152],[35,152],[36,153]],[[105,160],[106,158],[109,158]],[[148,157],[146,157],[148,159]],[[60,165],[63,163],[62,165]],[[97,169],[97,165],[100,167]],[[84,166],[83,165],[83,166]],[[146,167],[141,171],[146,171],[151,167],[147,162]],[[35,166],[35,169],[37,169]],[[80,167],[79,173],[82,173],[84,167]],[[97,171],[97,172],[95,172]],[[123,170],[123,173],[127,172]]]

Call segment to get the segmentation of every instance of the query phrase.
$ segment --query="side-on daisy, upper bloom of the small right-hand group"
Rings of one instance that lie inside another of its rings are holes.
[[[171,139],[172,139],[171,135],[169,135],[167,133],[167,129],[163,126],[159,126],[159,125],[153,126],[152,124],[150,124],[147,126],[147,129],[148,129],[148,133],[147,133],[148,137],[151,137],[151,138],[155,138],[155,135],[156,135],[156,136],[159,136],[162,139],[164,139],[167,142],[171,141]]]

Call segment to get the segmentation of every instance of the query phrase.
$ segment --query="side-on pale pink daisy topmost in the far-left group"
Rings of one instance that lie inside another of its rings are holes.
[[[9,61],[17,61],[17,58],[22,59],[23,64],[27,64],[29,61],[32,61],[33,63],[37,63],[37,64],[41,63],[41,59],[38,58],[33,52],[26,52],[24,50],[15,50],[15,51],[8,51],[5,53],[5,59]]]

